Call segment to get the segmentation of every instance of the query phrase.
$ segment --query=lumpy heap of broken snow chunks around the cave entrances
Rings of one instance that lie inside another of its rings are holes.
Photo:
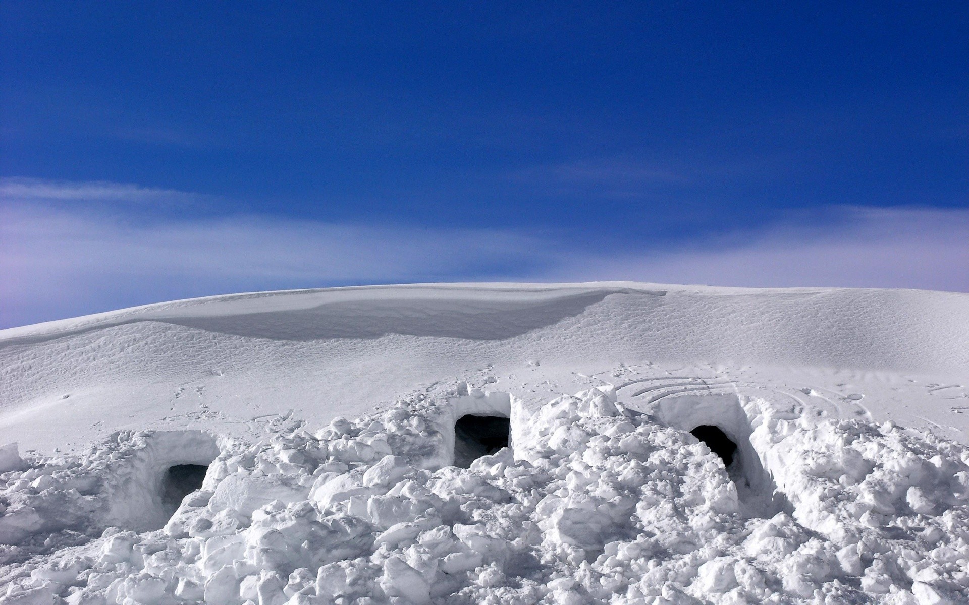
[[[261,445],[222,439],[202,489],[155,530],[145,529],[157,513],[141,514],[154,496],[133,495],[161,489],[167,466],[203,464],[214,441],[136,433],[80,458],[0,451],[0,602],[969,598],[964,446],[891,423],[768,411],[750,443],[784,510],[751,517],[706,445],[613,393],[587,390],[534,413],[513,400],[511,448],[470,469],[447,466],[453,400],[422,396]]]

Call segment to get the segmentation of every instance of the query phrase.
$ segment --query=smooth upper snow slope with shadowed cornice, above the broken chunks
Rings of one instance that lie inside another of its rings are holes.
[[[0,434],[43,451],[118,429],[255,435],[289,410],[322,425],[485,376],[536,403],[605,382],[713,378],[826,417],[969,439],[969,295],[633,283],[238,294],[3,330],[0,368]],[[623,389],[621,401],[639,409],[686,387]]]

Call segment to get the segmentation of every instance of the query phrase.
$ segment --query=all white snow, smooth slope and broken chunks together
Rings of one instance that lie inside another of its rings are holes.
[[[969,599],[965,294],[270,292],[0,357],[0,603]]]

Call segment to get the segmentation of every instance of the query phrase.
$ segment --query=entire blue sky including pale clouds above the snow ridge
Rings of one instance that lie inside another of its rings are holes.
[[[0,327],[240,290],[969,290],[965,3],[0,5]]]

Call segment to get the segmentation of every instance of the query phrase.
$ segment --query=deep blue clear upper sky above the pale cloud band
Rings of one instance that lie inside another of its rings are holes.
[[[205,196],[136,221],[494,228],[601,252],[969,206],[964,2],[8,0],[0,17],[0,176]]]

